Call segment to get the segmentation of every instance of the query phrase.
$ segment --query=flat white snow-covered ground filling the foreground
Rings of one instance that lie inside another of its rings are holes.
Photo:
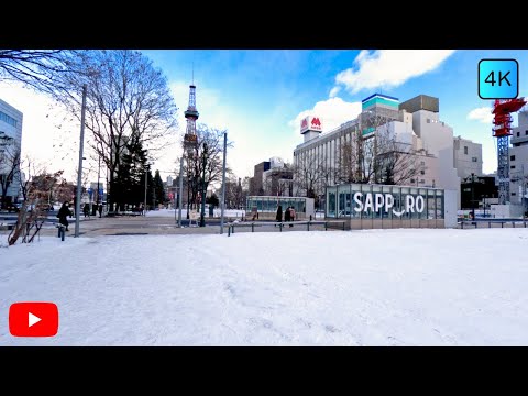
[[[528,345],[528,229],[41,238],[0,249],[0,345]],[[15,301],[53,301],[50,339]]]

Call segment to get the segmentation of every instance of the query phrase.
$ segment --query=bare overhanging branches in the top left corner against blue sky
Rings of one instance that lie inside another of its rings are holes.
[[[70,50],[0,50],[0,80],[20,81],[37,91],[63,91],[61,76],[76,73]]]

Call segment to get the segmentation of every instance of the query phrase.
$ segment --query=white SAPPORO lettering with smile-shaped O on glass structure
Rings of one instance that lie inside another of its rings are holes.
[[[363,196],[364,202],[363,202]],[[394,196],[389,193],[382,194],[382,193],[355,193],[354,194],[354,202],[356,212],[367,212],[369,210],[378,212],[380,210],[384,210],[385,213],[388,213],[389,210],[393,211],[394,216],[400,217],[404,213],[421,213],[426,208],[426,199],[424,196],[413,196],[407,195],[405,199],[402,201],[402,210],[396,210],[394,207]]]

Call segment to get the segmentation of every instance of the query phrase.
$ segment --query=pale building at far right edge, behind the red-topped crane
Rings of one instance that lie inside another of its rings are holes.
[[[518,113],[518,127],[513,128],[512,147],[509,147],[509,201],[527,202],[528,177],[528,109]]]

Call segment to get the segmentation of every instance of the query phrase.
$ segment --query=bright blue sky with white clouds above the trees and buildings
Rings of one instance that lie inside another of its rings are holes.
[[[477,95],[479,61],[517,59],[519,96],[528,96],[526,50],[142,52],[167,76],[178,107],[174,144],[154,164],[164,179],[177,168],[175,160],[182,152],[193,68],[198,124],[228,131],[234,144],[228,164],[238,177],[252,176],[254,165],[272,156],[292,162],[294,148],[302,142],[299,123],[306,114],[319,116],[328,132],[354,119],[361,100],[374,92],[400,101],[420,94],[439,98],[441,121],[453,129],[454,136],[481,143],[483,172],[493,173],[492,101]],[[23,153],[47,164],[48,170],[65,169],[68,179],[74,179],[80,125],[62,123],[61,114],[50,110],[47,98],[20,86],[0,82],[0,98],[24,113]],[[96,180],[97,163],[87,160],[86,167],[91,169],[90,180]]]

